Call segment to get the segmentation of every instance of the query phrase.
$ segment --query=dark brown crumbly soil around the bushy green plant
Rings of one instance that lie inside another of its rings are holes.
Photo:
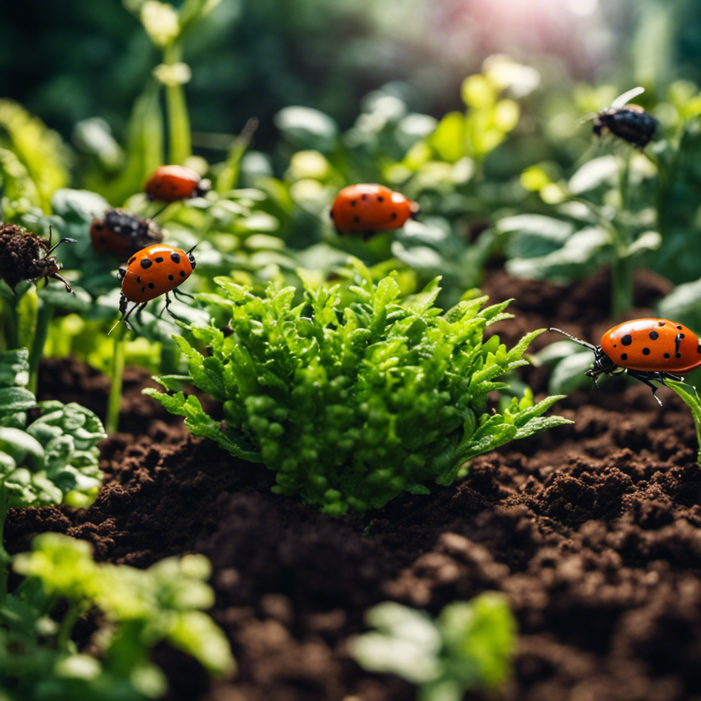
[[[632,318],[669,287],[652,275],[638,283]],[[612,325],[603,273],[566,290],[494,273],[486,292],[519,299],[518,318],[498,325],[507,343],[553,324],[596,340]],[[548,372],[526,373],[540,395]],[[701,700],[701,469],[689,411],[669,390],[662,408],[625,378],[573,393],[556,408],[576,423],[475,459],[462,484],[332,519],[271,494],[263,468],[189,437],[139,394],[148,382],[138,369],[126,377],[125,433],[102,443],[95,504],[14,512],[7,541],[17,552],[35,533],[62,531],[135,566],[206,554],[212,615],[240,673],[210,683],[159,648],[171,700],[411,700],[407,683],[348,656],[365,609],[394,599],[437,613],[484,590],[504,592],[519,622],[504,699]],[[41,393],[104,414],[107,381],[53,361]]]

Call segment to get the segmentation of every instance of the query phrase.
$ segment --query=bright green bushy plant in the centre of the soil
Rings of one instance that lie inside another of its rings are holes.
[[[394,274],[374,285],[354,266],[359,284],[344,308],[339,285],[306,287],[297,306],[294,288],[269,287],[261,299],[227,278],[216,278],[223,295],[197,295],[228,311],[231,332],[190,326],[206,357],[175,336],[189,375],[158,381],[176,390],[186,379],[215,397],[222,426],[193,395],[145,391],[193,433],[275,470],[275,492],[330,514],[380,508],[402,491],[427,494],[425,482],[451,484],[470,458],[567,423],[541,416],[557,396],[533,404],[526,394],[503,413],[488,410],[487,395],[506,386],[498,376],[525,365],[543,331],[511,351],[498,336],[485,342],[489,324],[511,317],[508,301],[481,309],[481,297],[442,314],[433,306],[438,278],[402,302]]]

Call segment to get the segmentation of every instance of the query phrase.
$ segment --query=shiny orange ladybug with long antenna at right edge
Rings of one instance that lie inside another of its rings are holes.
[[[697,367],[701,367],[701,345],[693,331],[669,319],[635,319],[614,326],[601,337],[599,346],[575,338],[560,329],[550,329],[564,334],[594,353],[594,367],[585,374],[597,383],[601,374],[613,375],[627,372],[644,382],[655,395],[658,387],[652,381],[665,384],[665,380],[681,380]]]

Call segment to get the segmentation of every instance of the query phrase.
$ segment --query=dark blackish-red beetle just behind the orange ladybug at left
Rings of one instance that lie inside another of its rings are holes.
[[[127,257],[152,243],[161,243],[163,232],[152,219],[125,210],[107,210],[102,219],[93,219],[90,240],[97,253]]]

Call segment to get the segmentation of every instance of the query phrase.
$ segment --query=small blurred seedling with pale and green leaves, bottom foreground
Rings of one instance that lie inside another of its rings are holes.
[[[515,652],[516,622],[496,592],[445,606],[435,620],[393,601],[365,614],[375,630],[351,641],[370,672],[391,672],[416,684],[418,701],[460,701],[466,690],[496,690]]]

